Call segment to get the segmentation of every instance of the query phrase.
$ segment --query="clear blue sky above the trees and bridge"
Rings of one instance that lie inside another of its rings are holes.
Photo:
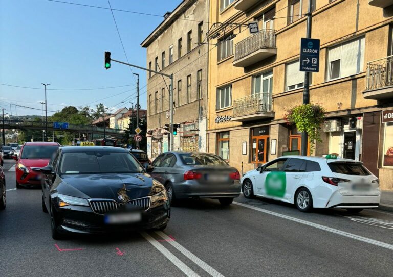
[[[64,0],[108,8],[107,0]],[[110,0],[113,9],[164,15],[181,0]],[[146,49],[140,43],[162,22],[163,17],[114,11],[128,60],[146,66]],[[102,88],[135,84],[125,65],[112,63],[104,69],[104,51],[125,61],[110,10],[56,3],[48,0],[0,0],[0,83],[48,89]],[[146,85],[146,73],[140,74],[140,87]],[[125,92],[127,90],[131,90]],[[47,91],[48,110],[63,105],[95,107],[130,106],[136,103],[135,87],[102,90]],[[146,108],[146,88],[140,103]],[[122,93],[124,92],[124,93]],[[120,95],[97,101],[99,99]],[[133,96],[132,96],[133,95]],[[132,97],[129,97],[132,96]],[[128,97],[128,98],[127,98]],[[10,113],[10,103],[42,108],[43,90],[0,85],[0,106]],[[126,103],[119,104],[122,100]],[[12,114],[15,106],[12,105]],[[17,107],[18,115],[41,115],[38,110]],[[49,113],[52,114],[52,113]]]

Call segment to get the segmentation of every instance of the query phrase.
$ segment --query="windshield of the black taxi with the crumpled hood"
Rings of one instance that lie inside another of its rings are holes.
[[[138,161],[127,152],[80,151],[63,153],[60,174],[142,173]]]

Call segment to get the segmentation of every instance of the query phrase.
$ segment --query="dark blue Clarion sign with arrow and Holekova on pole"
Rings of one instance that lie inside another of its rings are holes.
[[[301,38],[300,71],[319,72],[319,39]]]

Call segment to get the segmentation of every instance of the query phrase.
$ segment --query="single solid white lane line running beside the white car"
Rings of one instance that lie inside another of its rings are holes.
[[[387,248],[387,249],[393,250],[393,244],[388,244],[388,243],[385,243],[385,242],[382,242],[382,241],[378,241],[378,240],[374,240],[374,239],[369,239],[369,238],[366,238],[366,237],[358,236],[358,235],[351,234],[351,233],[348,233],[348,232],[345,232],[345,231],[341,231],[341,230],[337,230],[337,229],[334,229],[334,228],[330,228],[328,226],[324,226],[324,225],[321,225],[321,224],[313,223],[313,222],[310,222],[310,221],[307,221],[307,220],[302,220],[302,219],[299,219],[299,218],[296,218],[296,217],[292,217],[292,216],[288,216],[288,215],[275,213],[275,212],[272,212],[272,211],[268,211],[268,210],[265,210],[265,209],[257,208],[257,207],[254,207],[254,206],[251,206],[251,205],[247,205],[247,204],[243,204],[243,203],[239,203],[239,202],[233,202],[233,204],[236,204],[236,205],[239,205],[239,206],[243,206],[243,207],[246,207],[246,208],[249,208],[249,209],[253,209],[255,211],[263,212],[263,213],[266,213],[266,214],[274,215],[274,216],[277,216],[277,217],[285,218],[285,219],[288,219],[288,220],[291,220],[291,221],[295,221],[295,222],[298,222],[298,223],[301,223],[301,224],[304,224],[304,225],[309,225],[311,227],[318,228],[318,229],[321,229],[321,230],[324,230],[324,231],[328,231],[328,232],[331,232],[331,233],[334,233],[334,234],[338,234],[338,235],[341,235],[341,236],[344,236],[344,237],[356,239],[356,240],[363,241],[363,242],[366,242],[366,243],[369,243],[369,244],[374,244],[374,245],[377,245],[377,246],[380,246],[380,247],[383,247],[383,248]]]

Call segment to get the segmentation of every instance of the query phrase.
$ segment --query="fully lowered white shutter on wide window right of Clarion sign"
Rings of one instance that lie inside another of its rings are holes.
[[[342,45],[341,77],[363,71],[365,38],[356,39]]]

